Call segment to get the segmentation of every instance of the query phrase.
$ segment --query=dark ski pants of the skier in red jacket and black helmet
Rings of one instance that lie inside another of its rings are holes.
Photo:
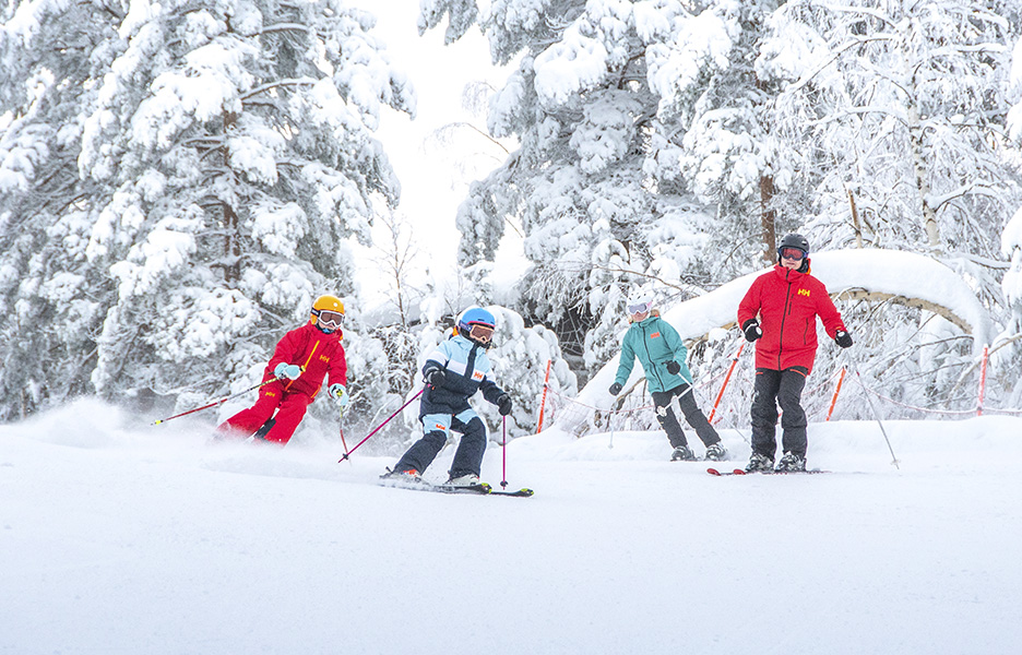
[[[784,430],[781,445],[805,458],[807,436],[806,410],[801,408],[801,392],[809,371],[793,366],[783,371],[756,369],[756,386],[752,396],[752,452],[771,460],[777,452],[777,405],[781,406],[781,427]]]

